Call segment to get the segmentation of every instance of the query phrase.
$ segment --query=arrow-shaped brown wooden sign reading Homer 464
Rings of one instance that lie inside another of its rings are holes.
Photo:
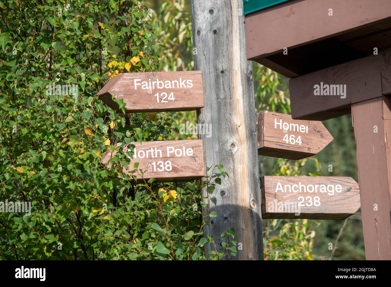
[[[291,115],[262,111],[256,114],[258,154],[304,159],[323,150],[333,137],[320,121],[301,121]]]

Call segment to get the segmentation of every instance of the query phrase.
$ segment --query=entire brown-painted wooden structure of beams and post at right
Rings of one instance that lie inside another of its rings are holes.
[[[366,259],[391,260],[391,1],[283,2],[246,15],[246,44],[291,77],[293,119],[352,113]]]

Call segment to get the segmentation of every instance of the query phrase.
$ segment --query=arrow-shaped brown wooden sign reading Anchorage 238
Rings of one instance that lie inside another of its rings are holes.
[[[285,185],[287,192],[282,192],[281,188],[285,191]],[[313,186],[309,188],[314,190],[312,193],[308,192],[308,185]],[[325,185],[325,190],[330,192],[320,192],[321,185]],[[340,192],[336,192],[337,189]],[[295,193],[294,190],[298,192]],[[261,193],[263,218],[345,219],[360,208],[359,185],[350,177],[262,176]],[[303,196],[303,199],[299,198],[300,196]],[[312,204],[307,196],[312,198]],[[320,203],[314,200],[316,196],[319,197]]]

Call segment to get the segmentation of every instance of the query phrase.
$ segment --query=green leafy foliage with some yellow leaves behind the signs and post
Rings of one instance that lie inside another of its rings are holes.
[[[126,72],[129,63],[131,72],[192,70],[189,3],[0,0],[0,9],[0,201],[33,205],[31,216],[0,213],[0,258],[206,258],[203,246],[213,238],[203,237],[202,226],[215,215],[202,211],[200,190],[212,191],[229,176],[222,166],[210,167],[204,182],[132,184],[122,173],[129,159],[121,147],[112,168],[100,162],[118,142],[197,138],[179,133],[181,123],[195,123],[195,112],[118,115],[96,96],[108,73]],[[289,113],[287,79],[258,64],[254,75],[257,109]],[[53,82],[77,85],[78,96],[47,94]],[[262,157],[260,173],[357,180],[349,116],[325,125],[334,141],[319,155]],[[364,258],[356,217],[348,219],[334,257]],[[263,223],[269,260],[328,258],[343,224]],[[230,244],[215,248],[213,259],[236,252],[235,231],[222,236]]]

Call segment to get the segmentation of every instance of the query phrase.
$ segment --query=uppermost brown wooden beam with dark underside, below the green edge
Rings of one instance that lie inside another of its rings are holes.
[[[286,77],[304,75],[388,49],[390,20],[389,0],[284,2],[246,15],[247,58]]]

